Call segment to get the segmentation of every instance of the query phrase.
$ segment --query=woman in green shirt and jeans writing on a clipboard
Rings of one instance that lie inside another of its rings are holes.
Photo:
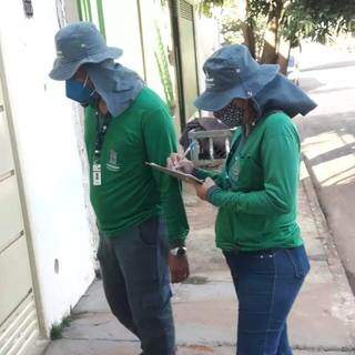
[[[235,129],[221,173],[172,154],[168,165],[205,180],[197,195],[219,207],[215,233],[239,298],[237,355],[291,355],[287,316],[310,263],[296,222],[300,136],[291,118],[316,104],[242,44],[204,63],[200,110]]]

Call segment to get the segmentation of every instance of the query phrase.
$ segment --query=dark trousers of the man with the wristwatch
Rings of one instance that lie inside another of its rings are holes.
[[[104,293],[115,317],[141,341],[144,355],[173,355],[169,243],[152,217],[116,237],[100,235],[98,258]]]

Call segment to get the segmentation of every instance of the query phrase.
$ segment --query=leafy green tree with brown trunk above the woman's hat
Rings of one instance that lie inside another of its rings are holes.
[[[234,0],[234,28],[243,32],[244,43],[261,63],[278,63],[286,72],[290,50],[303,39],[324,43],[341,32],[355,32],[354,0]],[[201,11],[211,16],[214,7],[231,6],[231,0],[200,0]],[[264,20],[263,40],[257,55],[257,22]],[[231,28],[231,26],[230,26]]]

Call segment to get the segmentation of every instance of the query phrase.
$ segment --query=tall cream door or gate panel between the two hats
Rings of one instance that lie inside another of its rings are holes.
[[[171,10],[183,129],[196,112],[193,101],[199,94],[194,8],[186,0],[171,0]]]

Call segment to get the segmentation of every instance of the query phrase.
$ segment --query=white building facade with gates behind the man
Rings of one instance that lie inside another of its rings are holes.
[[[38,352],[94,277],[82,110],[48,77],[54,33],[79,20],[124,50],[178,133],[196,114],[192,1],[0,1],[0,355]]]

